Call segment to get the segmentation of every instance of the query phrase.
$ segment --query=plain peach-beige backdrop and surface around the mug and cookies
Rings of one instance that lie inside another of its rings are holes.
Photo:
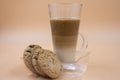
[[[83,4],[80,32],[91,51],[83,80],[120,80],[120,0],[0,0],[0,80],[40,80],[26,69],[22,54],[29,44],[50,48],[53,2]]]

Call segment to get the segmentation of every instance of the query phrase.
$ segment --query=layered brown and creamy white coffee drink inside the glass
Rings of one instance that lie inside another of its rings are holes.
[[[73,62],[79,32],[79,18],[53,18],[50,20],[53,47],[62,62]]]

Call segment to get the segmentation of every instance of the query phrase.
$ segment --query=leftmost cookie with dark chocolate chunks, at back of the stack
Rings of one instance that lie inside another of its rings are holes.
[[[28,69],[30,71],[32,71],[35,74],[39,74],[39,73],[36,72],[36,70],[33,67],[32,56],[33,56],[33,53],[34,53],[34,49],[37,48],[37,47],[41,48],[38,45],[29,45],[23,53],[23,59],[24,59],[25,65],[28,67]]]

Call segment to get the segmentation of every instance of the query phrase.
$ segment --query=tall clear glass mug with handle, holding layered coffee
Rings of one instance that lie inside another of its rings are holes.
[[[77,69],[75,62],[87,46],[84,36],[79,33],[82,4],[52,3],[48,8],[54,52],[64,69]]]

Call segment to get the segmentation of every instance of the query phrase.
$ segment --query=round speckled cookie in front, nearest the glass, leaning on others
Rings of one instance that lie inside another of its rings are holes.
[[[38,64],[43,72],[50,78],[57,78],[62,71],[62,64],[56,54],[49,50],[39,52]]]

